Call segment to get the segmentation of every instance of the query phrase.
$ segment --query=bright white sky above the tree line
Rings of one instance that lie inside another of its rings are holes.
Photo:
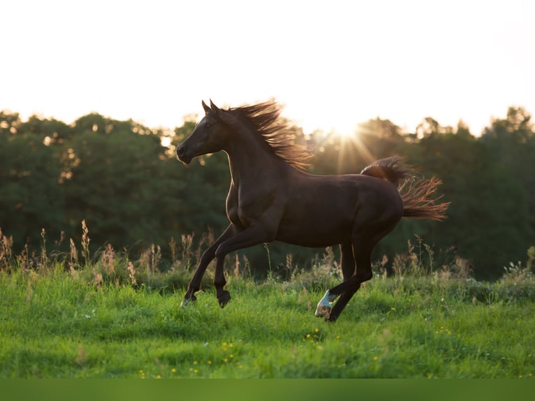
[[[535,1],[6,0],[0,110],[156,128],[274,98],[305,128],[535,113]]]

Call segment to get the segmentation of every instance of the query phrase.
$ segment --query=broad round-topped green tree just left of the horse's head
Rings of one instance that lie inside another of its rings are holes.
[[[156,187],[164,148],[152,131],[138,130],[133,122],[87,115],[65,144],[68,224],[78,228],[85,219],[95,245],[131,247],[159,230]]]

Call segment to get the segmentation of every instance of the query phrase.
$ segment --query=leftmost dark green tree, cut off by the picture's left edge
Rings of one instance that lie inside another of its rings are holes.
[[[64,226],[64,191],[59,184],[61,165],[47,133],[31,117],[34,129],[18,115],[0,115],[0,227],[17,239],[19,248],[41,229],[59,239]]]

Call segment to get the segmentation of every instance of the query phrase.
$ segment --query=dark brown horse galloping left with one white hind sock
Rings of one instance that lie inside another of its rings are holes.
[[[302,170],[309,154],[294,145],[276,103],[223,110],[203,101],[203,108],[205,117],[179,145],[177,157],[188,164],[196,156],[226,152],[230,224],[200,258],[183,303],[196,300],[207,265],[216,258],[214,285],[224,307],[230,293],[223,289],[223,258],[237,249],[275,240],[339,245],[344,282],[329,289],[316,309],[316,316],[335,321],[360,283],[372,278],[372,249],[402,217],[444,219],[448,204],[431,198],[439,180],[413,181],[398,191],[398,182],[409,177],[398,156],[376,161],[360,174],[310,175]]]

